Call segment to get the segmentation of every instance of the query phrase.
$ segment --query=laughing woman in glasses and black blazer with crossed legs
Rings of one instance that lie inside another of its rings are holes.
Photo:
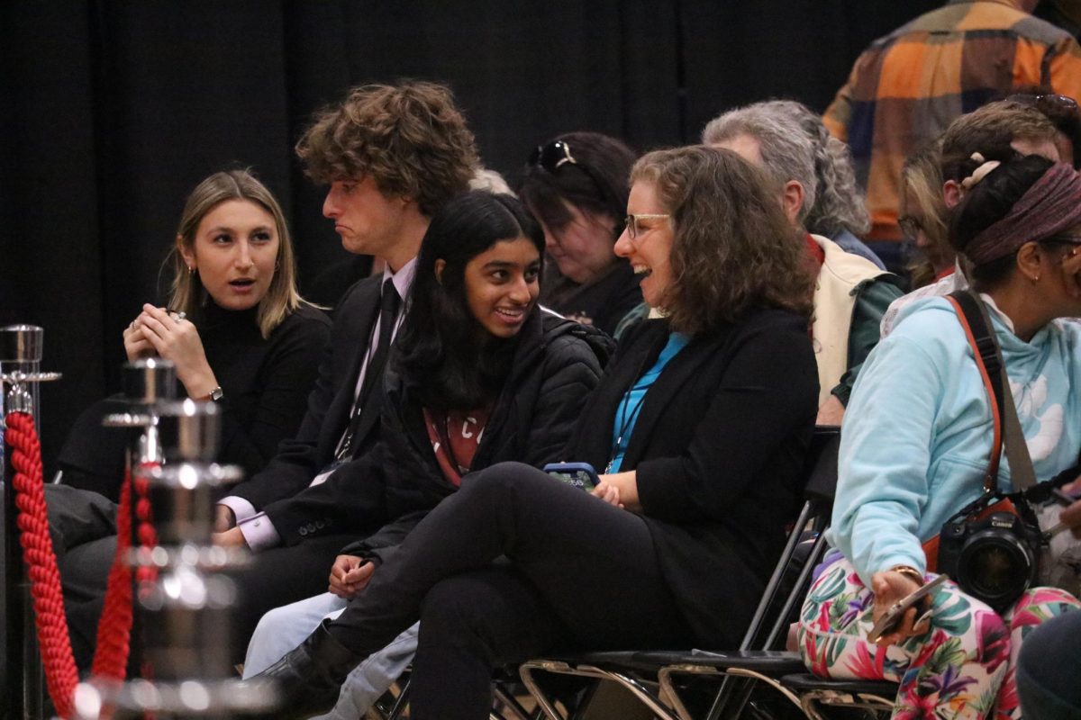
[[[735,646],[800,494],[817,379],[813,277],[758,169],[705,147],[631,173],[615,250],[666,317],[635,326],[566,460],[591,494],[520,463],[467,477],[335,621],[259,677],[279,717],[330,707],[422,619],[412,717],[481,719],[493,667],[556,644]]]

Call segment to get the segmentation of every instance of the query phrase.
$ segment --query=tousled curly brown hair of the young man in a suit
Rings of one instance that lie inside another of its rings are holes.
[[[416,200],[427,217],[465,192],[480,166],[451,91],[416,80],[353,87],[316,113],[296,154],[317,182],[371,176],[385,195]]]

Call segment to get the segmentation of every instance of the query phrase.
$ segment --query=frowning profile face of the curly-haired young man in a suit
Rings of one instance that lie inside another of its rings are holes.
[[[334,220],[342,246],[357,255],[386,259],[402,236],[409,203],[388,198],[375,180],[334,180],[323,201],[323,216]]]

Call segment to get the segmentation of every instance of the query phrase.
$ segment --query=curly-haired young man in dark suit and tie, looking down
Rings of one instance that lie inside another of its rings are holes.
[[[383,399],[379,379],[421,241],[432,214],[468,188],[479,165],[451,92],[418,81],[350,90],[316,113],[296,153],[307,175],[329,186],[323,215],[345,248],[375,256],[386,270],[353,285],[338,304],[297,436],[218,505],[215,542],[256,553],[239,576],[242,602],[231,639],[238,661],[264,612],[324,590],[337,551],[357,539],[357,529],[382,525],[364,516],[378,503],[352,484],[337,498],[357,505],[350,531],[310,521],[291,499],[332,479],[370,447]]]

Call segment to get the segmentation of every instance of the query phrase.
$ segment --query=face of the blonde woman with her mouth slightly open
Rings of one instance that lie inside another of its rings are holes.
[[[227,200],[203,216],[181,255],[218,307],[248,310],[270,287],[279,244],[273,216],[262,205]]]

